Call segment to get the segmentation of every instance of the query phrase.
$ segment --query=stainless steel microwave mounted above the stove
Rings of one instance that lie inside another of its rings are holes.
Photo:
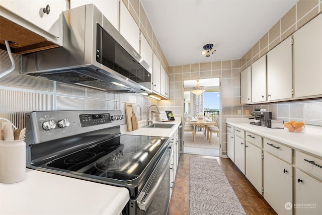
[[[24,55],[22,73],[106,92],[151,92],[152,68],[93,4],[62,16],[63,47]]]

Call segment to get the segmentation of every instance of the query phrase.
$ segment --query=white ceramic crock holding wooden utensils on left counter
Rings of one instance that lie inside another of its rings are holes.
[[[0,183],[16,183],[26,178],[26,142],[0,140]]]

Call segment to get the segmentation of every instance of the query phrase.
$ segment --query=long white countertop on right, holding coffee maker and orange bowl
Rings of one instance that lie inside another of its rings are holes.
[[[305,125],[302,132],[289,132],[287,129],[268,128],[252,125],[249,119],[227,118],[227,124],[237,126],[260,136],[281,142],[291,148],[299,149],[322,158],[322,127]]]

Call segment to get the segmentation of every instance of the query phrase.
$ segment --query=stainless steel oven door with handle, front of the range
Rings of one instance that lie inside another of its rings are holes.
[[[173,145],[167,148],[136,201],[130,200],[130,215],[169,213],[170,160],[173,157],[173,148]]]

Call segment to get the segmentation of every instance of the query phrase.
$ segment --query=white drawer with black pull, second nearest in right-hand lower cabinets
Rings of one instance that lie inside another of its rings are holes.
[[[282,160],[288,162],[288,163],[292,163],[292,149],[289,147],[286,147],[282,144],[279,144],[278,142],[269,140],[264,138],[264,149],[281,158]]]

